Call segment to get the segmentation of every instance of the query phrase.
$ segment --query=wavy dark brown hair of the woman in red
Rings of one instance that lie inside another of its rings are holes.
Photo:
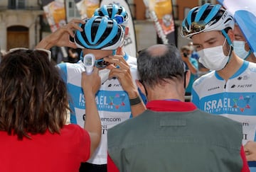
[[[16,50],[0,63],[0,130],[18,139],[60,133],[68,92],[58,69],[42,50]]]

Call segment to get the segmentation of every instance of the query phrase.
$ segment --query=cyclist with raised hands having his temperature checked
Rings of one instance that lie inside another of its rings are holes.
[[[68,40],[70,35],[74,42]],[[110,70],[109,79],[100,86],[95,99],[102,122],[100,147],[87,163],[80,166],[80,171],[107,171],[107,130],[129,119],[131,113],[136,116],[145,110],[135,86],[137,65],[134,64],[134,58],[117,55],[118,49],[124,45],[124,30],[117,21],[106,16],[93,16],[85,21],[75,19],[44,38],[37,47],[48,49],[53,45],[82,49],[80,62],[58,64],[73,98],[73,103],[70,103],[73,110],[71,123],[82,125],[86,115],[84,109],[87,107],[81,89],[81,73],[85,71],[83,56],[93,54],[99,72]]]

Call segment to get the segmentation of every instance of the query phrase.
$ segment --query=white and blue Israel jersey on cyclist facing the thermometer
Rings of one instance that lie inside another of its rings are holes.
[[[137,79],[137,59],[129,56],[125,56],[124,59],[127,60],[130,66],[132,79],[135,84],[135,79]],[[72,98],[70,108],[73,112],[70,114],[70,122],[84,127],[86,102],[82,91],[81,77],[82,71],[85,71],[85,68],[82,61],[76,64],[62,63],[58,64],[58,67],[64,73],[63,79],[68,86],[68,93]],[[102,122],[102,139],[95,154],[87,162],[91,164],[107,164],[107,130],[131,117],[129,96],[122,89],[118,79],[109,79],[100,86],[95,101]]]

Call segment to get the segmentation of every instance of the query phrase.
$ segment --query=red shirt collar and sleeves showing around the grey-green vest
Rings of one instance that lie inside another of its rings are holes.
[[[149,101],[146,104],[146,108],[152,111],[158,112],[186,112],[191,110],[196,110],[196,105],[191,102],[181,102],[181,101]],[[242,141],[241,141],[242,142]],[[242,158],[242,170],[241,172],[249,172],[249,167],[247,164],[247,160],[245,158],[245,151],[241,146],[240,155]],[[119,172],[119,169],[112,161],[111,157],[107,155],[107,171],[109,172]]]

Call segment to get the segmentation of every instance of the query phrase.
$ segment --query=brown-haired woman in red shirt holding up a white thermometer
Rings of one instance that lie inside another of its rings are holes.
[[[85,90],[100,87],[100,77],[82,89],[90,107],[96,103]],[[95,93],[95,92],[94,92]],[[16,48],[0,63],[0,171],[78,171],[100,143],[97,110],[90,108],[84,128],[66,125],[68,91],[47,50]],[[94,125],[90,125],[93,123]],[[89,124],[89,125],[88,125]]]

